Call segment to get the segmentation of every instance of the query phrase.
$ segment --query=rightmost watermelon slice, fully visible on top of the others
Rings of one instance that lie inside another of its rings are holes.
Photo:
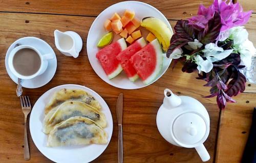
[[[145,85],[153,82],[163,64],[162,48],[158,40],[155,39],[136,52],[130,61]]]

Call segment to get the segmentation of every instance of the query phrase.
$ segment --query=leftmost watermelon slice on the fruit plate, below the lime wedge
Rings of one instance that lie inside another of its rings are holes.
[[[109,79],[116,77],[123,70],[116,56],[126,47],[127,45],[124,38],[121,38],[97,52],[96,58],[99,60]]]

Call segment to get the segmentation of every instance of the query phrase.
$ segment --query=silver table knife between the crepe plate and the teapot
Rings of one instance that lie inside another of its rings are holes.
[[[116,101],[116,116],[118,123],[118,163],[123,162],[123,131],[122,131],[122,117],[123,117],[123,94],[120,93]]]

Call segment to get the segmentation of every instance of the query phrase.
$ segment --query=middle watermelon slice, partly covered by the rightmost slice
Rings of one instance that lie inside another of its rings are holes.
[[[124,72],[127,74],[131,82],[134,82],[137,78],[139,78],[139,76],[129,60],[137,51],[142,49],[144,46],[146,46],[146,42],[142,37],[134,42],[132,45],[127,47],[125,50],[120,52],[116,57],[120,61]]]

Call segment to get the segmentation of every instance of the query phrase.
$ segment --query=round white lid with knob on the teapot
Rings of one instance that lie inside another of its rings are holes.
[[[197,112],[183,113],[173,121],[171,134],[174,141],[180,146],[186,148],[197,147],[207,139],[209,124]]]

